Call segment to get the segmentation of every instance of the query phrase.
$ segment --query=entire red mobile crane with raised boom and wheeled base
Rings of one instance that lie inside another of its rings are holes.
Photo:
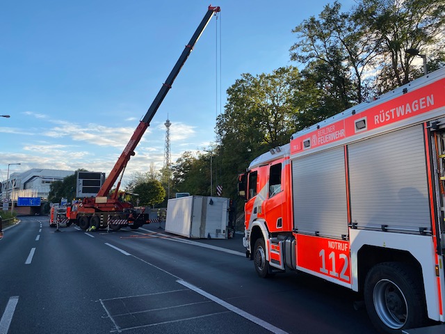
[[[87,230],[90,227],[118,230],[125,225],[137,229],[141,225],[149,223],[149,216],[145,213],[145,208],[136,209],[131,203],[123,202],[119,199],[120,182],[122,181],[122,176],[124,175],[124,170],[129,159],[135,154],[134,150],[136,146],[147,127],[149,127],[149,123],[154,117],[154,114],[159,109],[159,106],[161,106],[165,95],[167,95],[172,87],[173,81],[175,81],[181,67],[191,54],[195,43],[200,38],[207,24],[209,24],[211,17],[219,12],[220,7],[209,6],[207,13],[204,15],[190,42],[188,42],[188,45],[186,45],[184,51],[182,51],[181,56],[179,56],[177,63],[170,72],[165,84],[162,85],[161,90],[159,90],[159,93],[154,98],[151,106],[149,106],[144,118],[140,120],[133,136],[131,136],[127,146],[124,148],[122,154],[120,154],[118,161],[116,161],[113,170],[111,170],[104,184],[102,184],[97,196],[95,198],[83,198],[82,202],[74,203],[70,210],[67,210],[70,223],[79,225],[82,230]],[[109,196],[111,188],[118,180],[119,175],[120,180],[115,191]]]

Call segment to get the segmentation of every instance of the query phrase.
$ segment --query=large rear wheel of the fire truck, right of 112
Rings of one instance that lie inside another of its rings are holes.
[[[425,324],[424,296],[420,274],[401,262],[375,265],[364,283],[366,310],[381,333],[401,333]]]

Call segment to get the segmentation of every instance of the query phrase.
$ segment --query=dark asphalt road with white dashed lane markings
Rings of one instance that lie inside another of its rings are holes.
[[[5,231],[0,334],[375,333],[348,289],[305,274],[259,278],[239,235],[55,231],[47,216]]]

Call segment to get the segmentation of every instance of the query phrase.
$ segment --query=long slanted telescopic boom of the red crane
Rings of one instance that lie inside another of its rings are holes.
[[[209,6],[206,15],[204,15],[204,18],[202,19],[200,25],[197,27],[190,42],[188,42],[188,45],[186,45],[184,51],[182,51],[181,56],[179,56],[179,59],[177,60],[175,67],[173,67],[172,71],[168,75],[167,80],[162,85],[161,90],[159,90],[158,95],[156,95],[156,97],[154,98],[152,105],[149,106],[149,109],[147,110],[147,113],[145,114],[143,120],[141,120],[138,127],[136,127],[136,130],[133,132],[133,136],[131,136],[127,146],[124,148],[122,154],[120,154],[118,161],[116,161],[113,170],[111,170],[111,173],[106,178],[101,189],[99,189],[97,197],[107,196],[108,193],[111,191],[111,187],[113,186],[113,184],[115,184],[116,180],[118,180],[120,173],[122,173],[122,170],[124,170],[125,166],[127,166],[127,163],[131,158],[131,156],[134,155],[134,150],[136,149],[136,146],[140,142],[140,139],[145,133],[147,127],[149,127],[149,122],[154,117],[154,114],[159,109],[159,106],[161,106],[161,103],[163,102],[165,95],[167,95],[170,88],[172,88],[173,81],[175,81],[177,75],[179,74],[179,71],[181,70],[181,67],[184,65],[188,56],[191,54],[191,51],[193,50],[195,43],[200,38],[207,24],[209,24],[210,19],[213,16],[213,13],[218,13],[218,12],[220,12],[220,7]],[[117,192],[118,189],[116,189],[116,194]]]

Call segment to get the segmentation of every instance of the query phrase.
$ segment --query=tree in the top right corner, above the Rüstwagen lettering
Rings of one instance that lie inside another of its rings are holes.
[[[421,54],[439,54],[444,49],[444,0],[362,0],[353,17],[374,36],[380,93],[413,79],[414,58],[407,56],[407,49],[419,49]]]

